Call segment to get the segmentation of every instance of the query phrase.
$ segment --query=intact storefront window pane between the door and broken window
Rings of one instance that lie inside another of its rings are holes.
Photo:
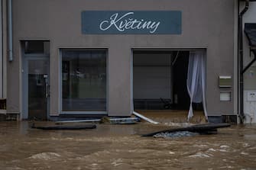
[[[62,50],[62,110],[106,111],[106,50]]]

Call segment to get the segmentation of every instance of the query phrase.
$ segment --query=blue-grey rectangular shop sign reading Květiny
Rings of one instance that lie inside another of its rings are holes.
[[[83,34],[181,34],[181,11],[83,11]]]

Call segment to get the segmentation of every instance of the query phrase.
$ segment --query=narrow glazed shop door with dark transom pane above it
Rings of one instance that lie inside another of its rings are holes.
[[[47,120],[50,101],[49,41],[22,42],[23,119]]]

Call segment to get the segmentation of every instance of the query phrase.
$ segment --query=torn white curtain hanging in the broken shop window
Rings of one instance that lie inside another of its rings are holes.
[[[206,111],[206,51],[190,51],[188,73],[186,79],[187,90],[190,95],[190,111],[188,120],[193,117],[192,103],[203,102],[203,111],[208,120]]]

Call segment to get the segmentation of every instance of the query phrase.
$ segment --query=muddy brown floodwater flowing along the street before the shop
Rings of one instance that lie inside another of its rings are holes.
[[[141,137],[166,125],[97,124],[95,130],[37,130],[0,122],[0,169],[256,169],[256,126],[218,134]]]

